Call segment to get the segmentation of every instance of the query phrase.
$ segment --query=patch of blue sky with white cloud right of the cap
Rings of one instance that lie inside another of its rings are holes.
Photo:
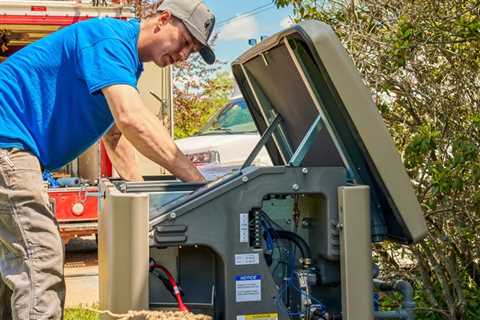
[[[272,0],[204,0],[215,14],[217,59],[228,65],[245,52],[248,39],[271,36],[288,27],[291,8],[277,9]]]

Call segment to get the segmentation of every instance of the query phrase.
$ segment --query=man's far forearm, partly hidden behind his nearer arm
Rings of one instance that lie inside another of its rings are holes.
[[[116,125],[103,137],[103,145],[120,177],[129,181],[143,180],[135,160],[135,148]]]

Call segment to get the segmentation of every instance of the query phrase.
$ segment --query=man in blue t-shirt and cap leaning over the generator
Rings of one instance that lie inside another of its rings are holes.
[[[134,145],[180,179],[203,181],[136,85],[142,62],[163,67],[198,51],[213,63],[213,25],[201,0],[165,0],[142,22],[81,22],[0,65],[0,318],[63,317],[64,253],[42,167],[63,166],[106,133],[125,179],[141,179]]]

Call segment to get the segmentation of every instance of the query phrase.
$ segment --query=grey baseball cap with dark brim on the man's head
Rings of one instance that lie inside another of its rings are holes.
[[[203,45],[199,50],[203,60],[208,64],[214,63],[215,53],[208,45],[215,25],[215,15],[210,9],[201,0],[164,0],[157,12],[166,10],[182,20],[192,36]]]

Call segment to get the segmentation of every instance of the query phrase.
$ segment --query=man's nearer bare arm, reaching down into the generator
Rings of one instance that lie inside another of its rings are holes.
[[[143,104],[133,87],[112,85],[102,89],[102,92],[118,129],[138,151],[183,181],[205,181],[198,169],[177,148],[160,120]]]

